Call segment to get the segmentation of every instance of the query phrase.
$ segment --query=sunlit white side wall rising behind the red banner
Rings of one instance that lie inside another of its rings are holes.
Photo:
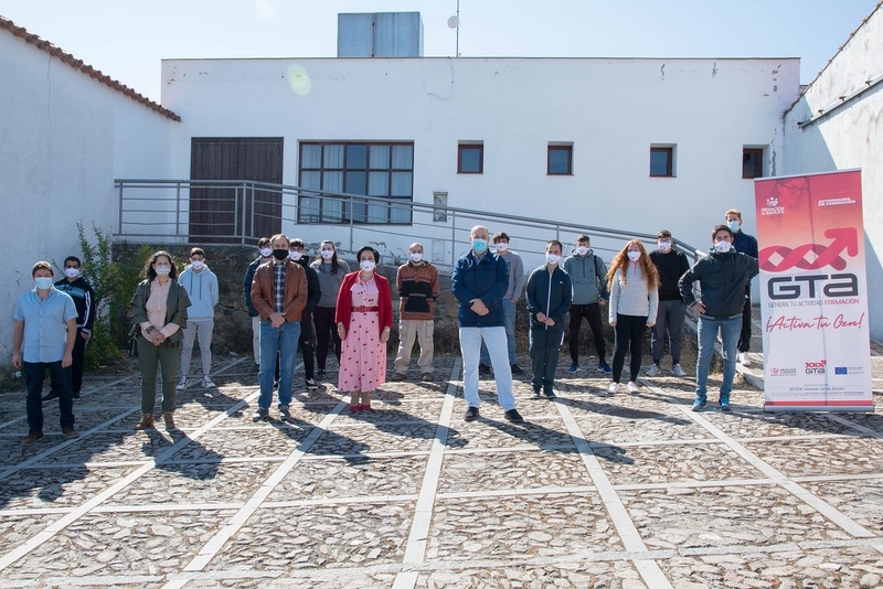
[[[837,108],[841,96],[883,76],[883,8],[859,26],[785,117],[781,174],[862,169],[868,291],[883,290],[883,84]],[[822,109],[827,114],[810,120]],[[869,299],[871,336],[883,341],[883,299]]]

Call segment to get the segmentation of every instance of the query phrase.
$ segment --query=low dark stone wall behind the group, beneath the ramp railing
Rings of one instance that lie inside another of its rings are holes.
[[[159,245],[151,246],[151,250],[168,250],[175,259],[175,265],[181,271],[188,263],[188,256],[193,245]],[[126,259],[136,255],[140,244],[115,244],[114,258],[116,260]],[[214,338],[212,351],[215,354],[249,354],[252,351],[252,321],[248,317],[248,309],[243,297],[243,279],[251,264],[257,257],[257,250],[253,246],[208,246],[205,250],[206,265],[217,276],[221,301],[215,308]],[[344,258],[345,259],[345,258]],[[381,260],[382,261],[382,260]],[[357,267],[354,259],[347,259],[351,268]],[[396,266],[381,264],[379,271],[383,274],[392,287],[393,312],[396,324],[390,338],[390,353],[394,354],[398,345],[398,290],[395,288]],[[435,353],[436,355],[459,354],[459,335],[457,326],[457,299],[450,292],[450,276],[439,275],[440,293],[436,301],[435,312]],[[613,352],[613,332],[605,324],[607,330],[608,360]],[[522,298],[518,303],[518,314],[515,319],[515,333],[519,355],[528,353],[528,311],[525,301]],[[591,331],[583,326],[583,342],[581,349],[584,353],[594,354],[595,346],[592,343]],[[648,338],[649,339],[649,338]],[[566,353],[566,346],[562,351]]]

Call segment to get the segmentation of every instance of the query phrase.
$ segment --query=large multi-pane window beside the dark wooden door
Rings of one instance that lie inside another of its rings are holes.
[[[321,156],[319,158],[319,167],[304,167],[304,149],[308,146],[319,146],[321,150]],[[341,168],[326,168],[325,167],[325,147],[326,146],[342,146],[343,147],[343,163]],[[364,167],[360,168],[349,168],[349,148],[351,146],[359,146],[365,148],[365,164]],[[372,168],[371,167],[371,147],[372,146],[386,146],[390,148],[389,152],[389,162],[385,168]],[[407,146],[411,147],[411,168],[394,168],[393,167],[393,156],[392,149],[394,146]],[[325,174],[326,172],[340,172],[342,175],[342,190],[341,192],[347,193],[348,189],[348,174],[350,173],[363,173],[365,180],[365,193],[370,191],[370,174],[371,173],[383,173],[387,174],[386,180],[386,195],[369,195],[372,199],[383,199],[389,202],[389,204],[396,204],[396,203],[413,203],[414,202],[414,141],[347,141],[347,140],[339,140],[339,141],[299,141],[298,143],[298,185],[304,185],[304,173],[305,172],[318,172],[319,173],[319,184],[321,188],[319,189],[308,189],[309,191],[315,191],[318,194],[321,194],[326,191],[325,188]],[[403,172],[411,174],[411,194],[407,196],[394,196],[390,194],[393,188],[393,173]],[[329,191],[329,192],[337,192],[337,191]],[[392,219],[392,207],[386,207],[386,219],[383,222],[375,222],[369,221],[368,215],[368,201],[362,204],[354,203],[354,206],[358,207],[358,211],[350,211],[349,203],[344,203],[342,211],[328,211],[326,212],[323,207],[319,208],[318,218],[305,218],[304,217],[304,207],[301,205],[302,199],[315,199],[317,195],[311,194],[310,192],[301,193],[298,196],[298,223],[322,223],[328,225],[345,225],[349,223],[355,223],[359,225],[411,225],[413,224],[413,218],[411,213],[408,213],[407,221],[393,221]],[[331,218],[329,218],[331,217]],[[340,218],[333,218],[340,217]]]

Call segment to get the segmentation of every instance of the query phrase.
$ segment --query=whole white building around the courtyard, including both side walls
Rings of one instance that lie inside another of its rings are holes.
[[[114,179],[256,180],[381,196],[392,206],[350,211],[274,193],[273,223],[256,231],[338,239],[355,218],[363,222],[357,239],[382,235],[397,254],[418,232],[437,259],[465,250],[465,242],[451,245],[445,222],[396,203],[643,234],[666,227],[704,248],[731,207],[755,233],[754,176],[862,167],[866,226],[875,226],[877,86],[797,122],[879,81],[880,14],[877,7],[802,97],[798,58],[369,56],[164,61],[162,106],[0,20],[0,197],[11,211],[12,248],[0,269],[0,301],[10,310],[0,318],[0,356],[9,355],[11,308],[31,288],[33,261],[77,251],[77,222],[121,233]],[[419,43],[419,22],[401,21],[407,42]],[[363,51],[359,39],[344,41],[348,55]],[[422,55],[413,45],[365,46]],[[862,141],[857,129],[870,129]],[[184,233],[188,223],[195,234],[199,223],[220,218],[214,205],[196,202],[201,195],[184,203]],[[868,239],[872,286],[880,285],[883,243]],[[531,249],[539,263],[541,247]],[[871,323],[883,339],[879,304]]]

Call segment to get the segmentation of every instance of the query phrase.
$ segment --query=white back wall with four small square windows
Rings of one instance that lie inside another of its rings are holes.
[[[292,66],[309,77],[308,93],[289,84]],[[298,183],[299,141],[408,140],[415,202],[444,191],[450,206],[667,227],[704,248],[727,208],[753,210],[743,146],[769,146],[777,171],[799,61],[174,60],[162,82],[163,106],[183,119],[179,178],[189,175],[191,137],[283,136],[287,184]],[[460,140],[483,141],[483,174],[456,173]],[[574,143],[573,176],[546,175],[550,141]],[[678,178],[649,178],[651,143],[678,144]],[[748,214],[745,231],[754,226]],[[298,227],[310,239],[333,231]]]

